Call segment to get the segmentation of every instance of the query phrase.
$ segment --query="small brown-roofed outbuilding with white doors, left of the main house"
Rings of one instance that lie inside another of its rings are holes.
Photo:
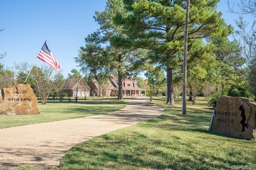
[[[90,96],[90,87],[83,78],[68,78],[62,84],[61,89],[64,90],[69,97]]]

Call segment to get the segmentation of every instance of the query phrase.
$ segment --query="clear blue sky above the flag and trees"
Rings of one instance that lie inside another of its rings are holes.
[[[7,55],[0,62],[6,67],[13,63],[33,64],[44,41],[61,65],[67,78],[73,68],[80,70],[74,57],[84,46],[84,38],[99,25],[93,16],[103,11],[106,0],[4,0],[0,2],[0,53]],[[234,26],[238,15],[228,13],[227,0],[220,0],[226,23]],[[42,66],[37,60],[36,65]]]

